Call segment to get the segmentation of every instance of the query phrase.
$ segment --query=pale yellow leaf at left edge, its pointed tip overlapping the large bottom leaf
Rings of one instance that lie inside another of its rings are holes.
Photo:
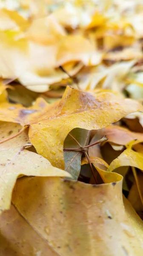
[[[9,123],[1,122],[0,137],[6,139],[10,134],[17,134],[19,129],[20,125],[11,123],[10,127]],[[69,173],[51,166],[44,157],[24,149],[23,145],[29,145],[28,131],[0,145],[0,213],[9,209],[12,190],[20,175],[70,177]]]

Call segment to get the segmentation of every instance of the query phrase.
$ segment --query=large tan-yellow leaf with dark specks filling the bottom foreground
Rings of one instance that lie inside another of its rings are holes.
[[[114,176],[114,173],[112,175]],[[29,232],[30,226],[36,233],[35,236],[38,234],[46,242],[47,247],[54,249],[57,255],[86,256],[88,253],[88,255],[113,256],[116,251],[117,255],[124,256],[127,252],[141,256],[143,242],[140,239],[141,235],[139,237],[137,232],[140,231],[142,234],[142,230],[141,228],[136,230],[134,227],[137,224],[133,224],[132,227],[129,222],[121,193],[121,181],[114,185],[107,183],[92,186],[78,181],[64,181],[56,177],[34,177],[33,179],[23,177],[15,185],[12,197],[14,209],[11,207],[10,216],[4,212],[0,217],[0,223],[9,222],[7,229],[4,224],[0,225],[1,234],[5,235],[1,250],[5,252],[11,224],[17,224],[17,221],[10,221],[10,219],[13,220],[13,214],[17,216],[17,211],[23,218],[24,227],[22,227],[25,232]],[[18,228],[19,225],[17,225],[15,238],[20,234],[19,246],[21,247],[21,243],[29,244],[29,236],[26,236],[26,240],[23,241],[25,233],[19,232]],[[75,241],[78,242],[75,243]],[[38,244],[36,248],[37,246]],[[43,254],[42,246],[43,243],[41,243]],[[8,248],[10,250],[10,247]],[[16,251],[19,250],[17,245],[13,248]]]

